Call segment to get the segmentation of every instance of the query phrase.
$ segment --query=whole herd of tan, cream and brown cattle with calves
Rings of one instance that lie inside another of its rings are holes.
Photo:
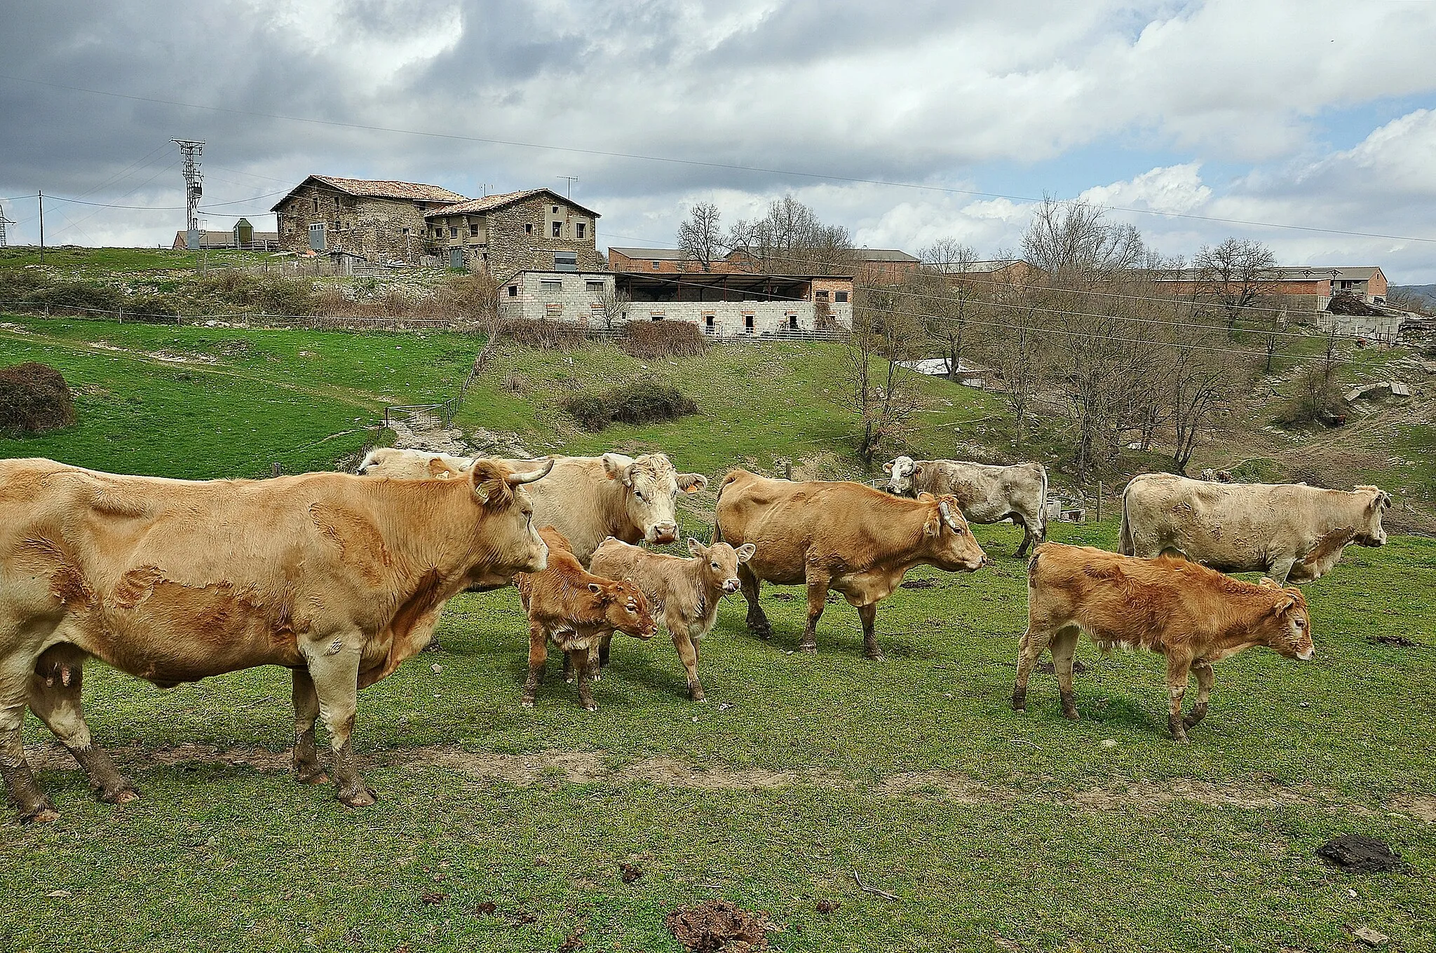
[[[26,762],[29,706],[98,797],[138,797],[85,723],[89,657],[162,687],[279,665],[293,673],[296,778],[332,774],[343,804],[368,805],[375,794],[350,743],[356,692],[428,646],[444,603],[462,591],[517,586],[530,619],[524,705],[553,644],[593,709],[589,682],[613,633],[649,639],[659,623],[701,700],[698,646],[724,596],[741,590],[748,627],[767,639],[761,583],[806,586],[801,647],[813,652],[837,591],[879,659],[877,603],[909,568],[989,563],[969,520],[1021,524],[1020,555],[1037,544],[1012,706],[1024,709],[1031,669],[1050,650],[1063,712],[1077,718],[1073,653],[1086,632],[1103,647],[1166,656],[1170,729],[1185,741],[1206,713],[1213,662],[1251,646],[1314,656],[1305,598],[1285,583],[1330,571],[1348,543],[1381,545],[1390,507],[1374,487],[1143,475],[1123,494],[1113,554],[1043,541],[1038,464],[899,456],[886,469],[886,492],[735,469],[718,487],[712,543],[689,538],[681,558],[640,544],[676,543],[678,494],[708,481],[663,454],[511,461],[382,449],[358,475],[205,482],[0,461],[0,776],[22,818],[57,817]],[[1223,576],[1246,570],[1271,578]],[[1183,718],[1190,673],[1198,698]],[[320,719],[329,772],[314,746]]]

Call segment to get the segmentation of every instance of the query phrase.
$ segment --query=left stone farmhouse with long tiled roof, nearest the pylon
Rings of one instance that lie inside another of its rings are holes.
[[[425,212],[464,201],[438,185],[310,175],[270,211],[280,247],[289,251],[348,251],[368,261],[418,264]]]

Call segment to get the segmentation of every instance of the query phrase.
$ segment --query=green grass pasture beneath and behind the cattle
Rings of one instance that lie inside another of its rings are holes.
[[[477,347],[445,334],[3,320],[0,363],[60,367],[80,422],[0,441],[0,454],[177,476],[332,465],[385,403],[452,393]],[[843,410],[821,399],[836,386],[831,349],[722,349],[648,367],[609,349],[572,357],[503,355],[460,426],[516,432],[537,451],[661,446],[711,475],[827,452],[811,448],[831,448],[819,464],[853,466]],[[638,375],[672,379],[704,413],[587,435],[556,409],[573,388]],[[933,455],[954,433],[1005,435],[989,398],[926,386],[933,408],[916,439]],[[694,531],[704,502],[685,514]],[[363,811],[286,776],[286,672],[161,692],[93,665],[96,741],[144,799],[96,802],[27,722],[62,820],[0,821],[0,950],[556,950],[583,927],[584,950],[676,952],[665,914],[708,897],[768,911],[783,926],[770,943],[787,952],[1314,953],[1358,947],[1358,926],[1393,949],[1436,950],[1436,543],[1348,548],[1307,587],[1317,659],[1252,650],[1221,663],[1211,715],[1178,746],[1152,656],[1084,646],[1078,723],[1061,719],[1051,675],[1032,676],[1027,713],[1010,710],[1025,624],[1020,534],[976,534],[995,565],[916,570],[909,578],[933,586],[882,606],[885,662],[862,657],[846,604],[804,656],[801,590],[765,587],[767,643],[727,600],[702,646],[702,705],[686,700],[661,636],[615,643],[599,712],[577,708],[554,663],[523,709],[514,593],[460,597],[438,652],[360,695],[356,745],[382,798]],[[1053,537],[1110,548],[1116,527],[1063,524]],[[1390,842],[1410,870],[1324,865],[1315,848],[1346,832]],[[620,863],[643,875],[625,884]],[[898,898],[860,891],[853,871]]]

